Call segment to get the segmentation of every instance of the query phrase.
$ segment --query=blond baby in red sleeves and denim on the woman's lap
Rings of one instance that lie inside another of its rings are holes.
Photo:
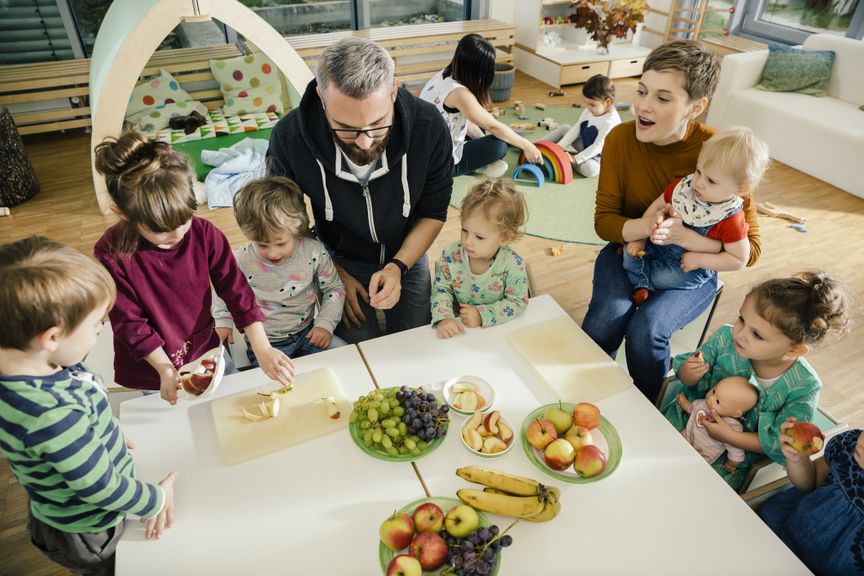
[[[718,271],[747,265],[750,241],[742,197],[759,185],[768,160],[768,147],[749,128],[718,130],[702,144],[696,171],[669,184],[645,215],[657,214],[659,223],[671,204],[685,226],[721,241],[723,249],[708,253],[644,239],[628,242],[624,269],[634,304],[643,304],[654,290],[693,290],[716,279]]]

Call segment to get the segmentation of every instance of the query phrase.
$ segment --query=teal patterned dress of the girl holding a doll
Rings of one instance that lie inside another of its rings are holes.
[[[687,399],[705,398],[717,382],[729,376],[748,378],[759,391],[759,402],[742,418],[744,432],[758,432],[759,444],[765,454],[778,464],[785,465],[786,458],[780,451],[780,424],[790,416],[799,421],[810,422],[819,405],[822,381],[807,360],[799,357],[768,390],[765,390],[756,379],[750,361],[742,358],[735,351],[732,326],[726,325],[714,332],[699,351],[703,353],[710,369],[694,386],[684,386],[684,395]],[[673,358],[672,369],[676,374],[678,368],[693,354],[694,352],[688,352]],[[667,406],[663,415],[678,431],[684,430],[689,417],[677,402]],[[732,488],[737,490],[753,462],[760,458],[761,454],[745,451],[744,462],[732,473],[723,469],[723,464],[726,462],[725,455],[718,458],[711,466]]]

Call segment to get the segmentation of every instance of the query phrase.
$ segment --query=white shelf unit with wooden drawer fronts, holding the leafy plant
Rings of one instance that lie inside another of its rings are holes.
[[[625,78],[642,73],[645,56],[651,50],[638,44],[638,32],[632,41],[617,40],[609,46],[608,54],[598,54],[596,44],[587,39],[585,30],[572,25],[543,24],[546,16],[568,16],[571,12],[569,0],[519,0],[513,46],[517,69],[556,88],[581,84],[595,74]],[[557,34],[559,41],[550,43],[550,33]]]

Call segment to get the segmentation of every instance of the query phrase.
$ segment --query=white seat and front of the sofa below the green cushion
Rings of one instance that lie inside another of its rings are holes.
[[[775,160],[864,197],[864,121],[856,105],[751,88],[732,94],[724,119],[751,128]]]

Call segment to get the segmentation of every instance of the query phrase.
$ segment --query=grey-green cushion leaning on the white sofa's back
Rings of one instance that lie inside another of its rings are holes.
[[[771,44],[768,46],[768,60],[756,87],[771,92],[825,96],[833,65],[834,52],[831,50],[802,50]]]

